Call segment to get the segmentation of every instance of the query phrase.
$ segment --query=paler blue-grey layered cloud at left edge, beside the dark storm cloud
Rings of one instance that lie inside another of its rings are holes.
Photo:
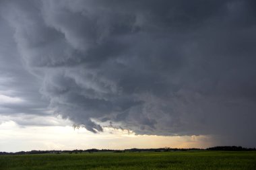
[[[7,22],[0,17],[0,23],[0,114],[45,116],[47,102],[38,93],[40,83],[24,70]]]

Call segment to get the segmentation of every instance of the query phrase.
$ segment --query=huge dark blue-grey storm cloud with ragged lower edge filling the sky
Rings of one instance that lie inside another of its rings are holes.
[[[91,118],[137,134],[213,134],[255,146],[254,1],[1,6],[26,69],[64,118],[92,132],[102,127]]]

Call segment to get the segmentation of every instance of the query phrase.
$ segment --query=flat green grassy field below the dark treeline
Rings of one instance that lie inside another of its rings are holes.
[[[184,151],[1,155],[0,169],[256,169],[256,152]]]

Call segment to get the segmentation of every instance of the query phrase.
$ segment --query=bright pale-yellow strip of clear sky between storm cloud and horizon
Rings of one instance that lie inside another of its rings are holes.
[[[88,148],[207,148],[211,136],[136,135],[127,130],[104,128],[94,134],[72,126],[20,126],[13,121],[0,124],[0,151],[73,150]]]

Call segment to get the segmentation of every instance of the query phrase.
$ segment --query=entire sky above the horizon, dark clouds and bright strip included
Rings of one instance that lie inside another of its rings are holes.
[[[255,9],[1,0],[0,151],[256,147]]]

